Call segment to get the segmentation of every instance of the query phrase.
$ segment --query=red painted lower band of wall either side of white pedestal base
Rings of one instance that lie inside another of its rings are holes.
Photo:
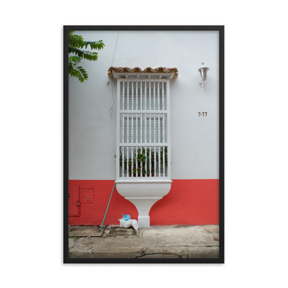
[[[114,181],[69,180],[79,186],[79,216],[69,216],[69,225],[101,225]],[[152,206],[150,225],[219,224],[219,179],[172,181],[170,192]],[[83,203],[83,189],[94,189],[93,203]],[[136,207],[115,187],[103,225],[119,225],[122,214],[138,220]]]

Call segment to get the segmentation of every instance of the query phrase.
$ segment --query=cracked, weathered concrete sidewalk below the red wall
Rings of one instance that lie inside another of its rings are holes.
[[[70,226],[69,258],[219,258],[219,225]]]

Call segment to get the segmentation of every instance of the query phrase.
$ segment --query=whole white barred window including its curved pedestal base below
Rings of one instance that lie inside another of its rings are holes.
[[[112,73],[117,79],[115,183],[136,206],[139,227],[150,225],[152,205],[172,183],[169,85],[174,73],[161,71]]]

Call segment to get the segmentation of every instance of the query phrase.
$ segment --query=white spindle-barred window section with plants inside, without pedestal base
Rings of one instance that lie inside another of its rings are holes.
[[[169,79],[117,81],[117,178],[171,179]]]

